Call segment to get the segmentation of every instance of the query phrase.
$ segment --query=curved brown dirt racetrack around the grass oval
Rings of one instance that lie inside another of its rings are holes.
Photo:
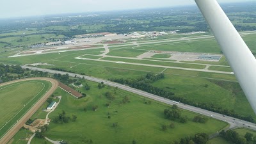
[[[33,78],[28,78],[28,79],[19,79],[15,81],[10,81],[7,83],[0,84],[0,86],[4,86],[6,84],[12,84],[12,83],[17,83],[20,81],[31,81],[31,80],[44,80],[44,81],[49,81],[52,83],[52,87],[48,92],[45,93],[45,95],[36,102],[36,104],[29,109],[29,111],[20,118],[19,122],[17,122],[12,129],[10,129],[6,134],[4,134],[3,138],[0,139],[0,143],[8,143],[12,139],[12,137],[16,134],[16,132],[19,131],[19,129],[28,121],[29,118],[37,111],[37,109],[40,108],[44,104],[44,102],[48,99],[48,97],[51,96],[51,94],[58,88],[59,82],[56,81],[55,79],[47,78],[47,77],[33,77]]]

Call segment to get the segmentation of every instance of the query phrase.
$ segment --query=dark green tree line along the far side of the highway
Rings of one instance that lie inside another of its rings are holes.
[[[234,109],[223,109],[222,107],[215,106],[214,104],[207,104],[205,102],[195,102],[193,100],[187,100],[183,97],[175,96],[175,93],[170,92],[170,90],[152,86],[151,83],[154,83],[159,79],[164,79],[164,74],[154,74],[150,72],[146,76],[139,77],[138,79],[110,78],[109,81],[114,81],[120,84],[127,84],[132,88],[143,90],[145,92],[152,93],[154,95],[159,95],[160,97],[164,97],[166,99],[175,100],[177,102],[182,102],[184,104],[189,104],[190,106],[195,106],[197,108],[207,109],[209,111],[232,116],[235,118],[239,118],[241,120],[246,120],[248,122],[253,122],[253,123],[255,122],[255,119],[251,115],[247,115],[247,116],[239,115],[235,113]],[[170,87],[168,87],[168,89],[170,89]]]

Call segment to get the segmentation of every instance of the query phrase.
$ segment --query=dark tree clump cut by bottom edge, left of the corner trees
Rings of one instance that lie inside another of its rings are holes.
[[[181,138],[180,141],[173,141],[173,144],[207,144],[209,135],[205,133],[195,134],[194,137]]]

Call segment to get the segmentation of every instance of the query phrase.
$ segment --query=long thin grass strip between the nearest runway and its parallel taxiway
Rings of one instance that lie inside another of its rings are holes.
[[[196,64],[188,64],[188,63],[172,63],[172,62],[164,62],[164,61],[150,61],[150,60],[132,60],[125,58],[109,58],[105,57],[101,60],[109,60],[109,61],[124,61],[127,63],[141,63],[146,65],[162,65],[168,67],[182,67],[182,68],[195,68],[195,69],[204,69],[205,65],[196,65]]]

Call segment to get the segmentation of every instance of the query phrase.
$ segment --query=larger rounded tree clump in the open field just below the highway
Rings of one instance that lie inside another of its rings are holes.
[[[181,116],[181,112],[177,105],[173,104],[172,109],[164,109],[164,116],[169,120],[179,120],[181,123],[188,122],[187,116]]]

